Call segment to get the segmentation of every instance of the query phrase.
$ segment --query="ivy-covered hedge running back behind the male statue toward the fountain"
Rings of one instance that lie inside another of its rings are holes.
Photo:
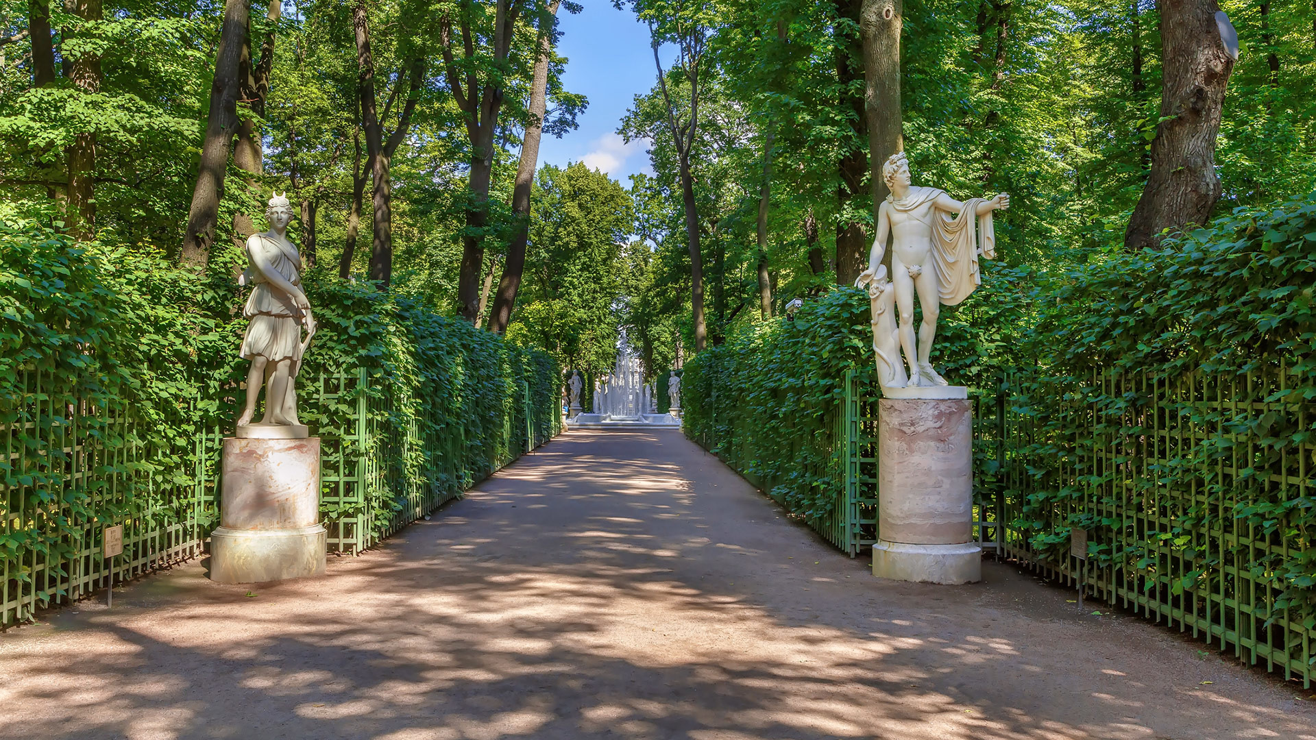
[[[988,386],[1016,346],[1008,340],[1023,312],[1025,271],[988,267],[994,295],[975,296],[938,321],[937,357],[946,377]],[[983,291],[984,294],[987,291]],[[794,319],[776,317],[688,359],[680,404],[687,436],[719,454],[786,508],[808,520],[836,506],[840,454],[833,419],[846,370],[874,388],[876,362],[867,294],[837,288],[805,302]],[[975,330],[970,325],[996,327]]]

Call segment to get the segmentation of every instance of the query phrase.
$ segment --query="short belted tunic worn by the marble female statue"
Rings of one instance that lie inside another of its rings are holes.
[[[291,244],[282,244],[265,234],[253,234],[247,240],[247,251],[261,249],[270,265],[283,279],[301,287],[301,255]],[[254,255],[250,255],[254,262]],[[240,284],[255,284],[242,316],[249,319],[246,334],[242,337],[242,358],[265,357],[270,362],[279,359],[301,359],[301,309],[292,296],[270,286],[259,270],[247,267]]]

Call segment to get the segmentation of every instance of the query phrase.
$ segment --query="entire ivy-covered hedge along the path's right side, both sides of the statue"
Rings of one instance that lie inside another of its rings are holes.
[[[1094,596],[1309,681],[1316,195],[1075,257],[984,263],[938,325],[937,365],[979,402],[975,486],[999,496],[1007,552],[1073,579],[1086,529]],[[845,369],[873,382],[866,303],[833,291],[686,363],[687,433],[804,517],[836,506]]]

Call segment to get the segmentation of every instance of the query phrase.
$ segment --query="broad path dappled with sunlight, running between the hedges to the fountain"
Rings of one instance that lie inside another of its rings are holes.
[[[678,432],[576,431],[324,579],[190,566],[0,636],[0,737],[1316,739],[987,565],[878,581]]]

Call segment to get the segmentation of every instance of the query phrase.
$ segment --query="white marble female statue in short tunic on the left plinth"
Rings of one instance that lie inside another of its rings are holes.
[[[251,361],[251,369],[247,371],[246,407],[237,424],[240,437],[305,433],[297,421],[293,382],[311,337],[316,334],[316,320],[301,290],[301,255],[287,236],[292,207],[286,195],[278,194],[268,205],[265,215],[270,230],[247,238],[250,266],[238,279],[240,284],[255,286],[242,308],[242,316],[250,323],[241,353],[243,359]],[[262,384],[265,416],[251,424]]]

